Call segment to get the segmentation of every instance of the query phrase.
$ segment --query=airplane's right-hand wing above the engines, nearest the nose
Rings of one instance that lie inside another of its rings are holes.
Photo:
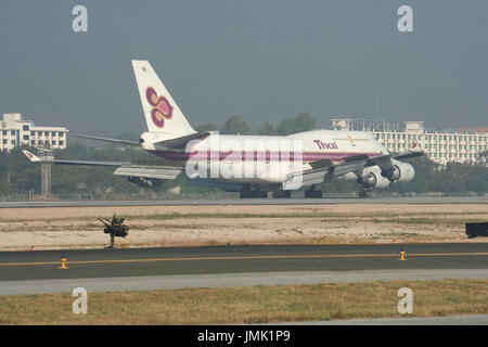
[[[404,159],[421,156],[424,153],[422,151],[403,152],[393,158]],[[293,190],[299,187],[319,184],[349,172],[354,172],[359,176],[362,169],[375,165],[377,165],[384,172],[393,172],[394,170],[390,154],[375,157],[368,157],[365,154],[360,154],[350,156],[341,164],[333,164],[330,159],[322,159],[311,163],[311,169],[288,174],[286,180],[283,182],[283,189]]]

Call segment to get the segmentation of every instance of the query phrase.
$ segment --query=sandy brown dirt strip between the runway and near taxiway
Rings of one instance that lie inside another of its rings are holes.
[[[119,247],[224,244],[488,242],[464,223],[488,221],[488,205],[221,205],[0,209],[0,250],[102,248],[98,217],[126,218]]]

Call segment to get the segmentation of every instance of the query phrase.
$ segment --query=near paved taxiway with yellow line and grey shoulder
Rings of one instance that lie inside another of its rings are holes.
[[[400,250],[407,260],[400,259]],[[59,269],[61,257],[68,269]],[[0,295],[488,279],[488,244],[206,246],[0,253]]]

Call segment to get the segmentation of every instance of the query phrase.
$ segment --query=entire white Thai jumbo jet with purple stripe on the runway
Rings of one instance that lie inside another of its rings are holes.
[[[356,180],[360,196],[390,182],[410,181],[414,169],[403,158],[423,155],[408,151],[396,155],[362,131],[313,130],[286,137],[221,136],[195,131],[169,94],[151,64],[132,61],[142,108],[147,124],[139,142],[89,136],[80,138],[142,147],[154,162],[84,162],[40,158],[35,163],[115,167],[139,185],[158,185],[183,170],[190,183],[239,191],[241,197],[290,197],[291,190],[306,187],[306,197],[322,197],[316,189],[328,180]]]

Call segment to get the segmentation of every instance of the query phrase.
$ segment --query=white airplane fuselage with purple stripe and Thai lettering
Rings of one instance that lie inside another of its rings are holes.
[[[157,137],[154,141],[157,142]],[[343,130],[314,130],[286,137],[211,133],[189,143],[181,152],[149,147],[147,152],[165,162],[185,167],[190,178],[256,184],[282,183],[290,172],[309,169],[309,163],[318,160],[337,164],[351,156],[388,153],[372,134]]]

